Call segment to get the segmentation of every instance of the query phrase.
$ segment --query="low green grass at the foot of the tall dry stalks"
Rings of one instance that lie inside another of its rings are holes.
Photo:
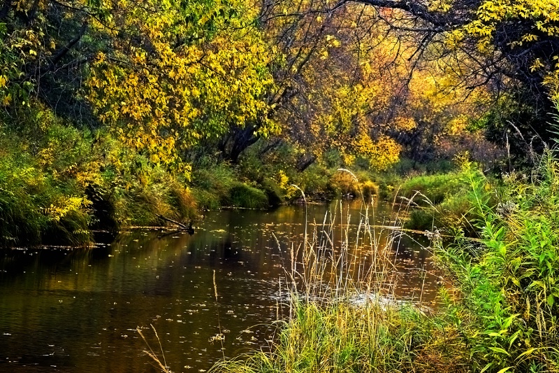
[[[449,353],[456,330],[437,328],[412,307],[297,302],[271,353],[218,363],[212,372],[465,372]],[[431,328],[427,328],[430,326]],[[441,342],[446,338],[446,345]],[[452,351],[453,352],[453,351]]]

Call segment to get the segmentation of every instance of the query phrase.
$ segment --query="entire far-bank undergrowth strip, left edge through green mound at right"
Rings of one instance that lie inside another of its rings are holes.
[[[92,230],[168,225],[170,220],[196,224],[205,210],[268,209],[302,202],[301,192],[307,201],[373,195],[390,202],[413,199],[419,204],[409,220],[414,229],[467,221],[459,173],[418,171],[447,170],[448,162],[416,169],[403,158],[380,174],[369,160],[357,157],[347,164],[330,150],[301,171],[293,146],[284,143],[269,151],[262,142],[236,164],[210,147],[166,165],[126,146],[110,129],[79,127],[37,102],[18,115],[0,115],[0,246],[87,245]],[[340,167],[351,168],[356,178]],[[404,177],[409,174],[414,177]],[[427,199],[429,204],[423,202]],[[428,209],[431,204],[438,213]]]

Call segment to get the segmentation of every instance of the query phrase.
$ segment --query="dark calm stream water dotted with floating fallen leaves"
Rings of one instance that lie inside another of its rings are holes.
[[[326,211],[337,211],[337,224],[349,215],[356,230],[360,205],[341,205],[342,213],[340,202],[310,205],[307,219],[321,227]],[[388,206],[375,206],[376,224],[393,219]],[[289,247],[303,241],[305,207],[215,211],[199,225],[192,236],[123,232],[87,250],[0,251],[0,372],[157,372],[138,326],[159,351],[154,325],[173,372],[201,372],[219,358],[266,346],[273,334],[266,325],[282,312],[278,280],[290,266]],[[342,229],[333,230],[337,241]],[[428,304],[436,276],[416,241],[427,243],[418,236],[393,245],[395,293],[417,301],[423,288]],[[218,311],[223,350],[210,342],[219,333]]]

